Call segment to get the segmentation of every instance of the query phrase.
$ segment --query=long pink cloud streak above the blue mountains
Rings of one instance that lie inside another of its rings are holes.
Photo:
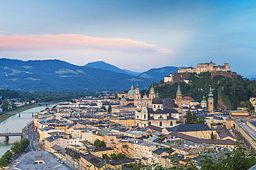
[[[158,48],[158,45],[130,39],[103,39],[80,34],[29,34],[0,35],[0,50],[98,50],[137,54],[172,53],[172,50]]]

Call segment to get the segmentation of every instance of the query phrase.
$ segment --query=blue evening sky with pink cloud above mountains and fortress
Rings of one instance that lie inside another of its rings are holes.
[[[256,1],[0,0],[0,58],[256,74]]]

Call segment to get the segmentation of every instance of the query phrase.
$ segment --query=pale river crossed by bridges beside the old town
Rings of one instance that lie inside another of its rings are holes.
[[[39,106],[39,107],[33,107],[31,109],[27,109],[24,111],[21,111],[21,116],[19,117],[19,114],[15,114],[11,116],[10,118],[4,120],[0,123],[0,133],[6,133],[6,132],[21,132],[22,129],[30,123],[34,117],[32,117],[32,113],[37,114],[41,110],[46,109],[46,107],[53,107],[54,105],[48,105],[48,106]],[[0,136],[0,158],[3,156],[4,153],[6,153],[7,150],[12,147],[12,144],[20,140],[21,137],[19,136],[12,136],[9,137],[9,142],[3,142],[4,137]]]

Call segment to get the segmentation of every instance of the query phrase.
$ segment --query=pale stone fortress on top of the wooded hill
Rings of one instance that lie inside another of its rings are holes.
[[[200,74],[202,72],[210,72],[211,78],[214,76],[225,76],[230,78],[237,78],[236,72],[230,71],[230,65],[228,63],[224,63],[224,65],[216,65],[215,63],[199,63],[196,67],[188,67],[181,69],[178,68],[178,72],[174,74],[170,74],[170,76],[165,76],[164,82],[173,84],[177,81],[185,81],[185,83],[189,83],[189,78],[191,73]]]

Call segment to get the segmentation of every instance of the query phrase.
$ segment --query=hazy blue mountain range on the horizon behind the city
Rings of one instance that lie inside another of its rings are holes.
[[[149,87],[177,72],[178,67],[161,67],[132,72],[96,61],[84,66],[60,60],[21,61],[0,59],[0,88],[35,90],[124,90],[131,84]]]

